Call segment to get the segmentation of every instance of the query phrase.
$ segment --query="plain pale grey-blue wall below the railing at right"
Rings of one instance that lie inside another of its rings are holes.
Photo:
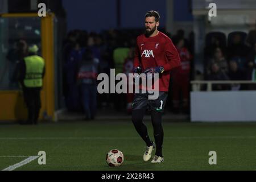
[[[191,121],[256,121],[255,104],[256,91],[191,92]]]

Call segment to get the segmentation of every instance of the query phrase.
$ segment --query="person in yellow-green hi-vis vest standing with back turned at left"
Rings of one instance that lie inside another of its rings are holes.
[[[28,48],[28,56],[20,61],[19,82],[22,86],[24,101],[27,105],[28,118],[23,124],[36,125],[41,108],[40,90],[45,73],[44,59],[37,55],[38,46]]]

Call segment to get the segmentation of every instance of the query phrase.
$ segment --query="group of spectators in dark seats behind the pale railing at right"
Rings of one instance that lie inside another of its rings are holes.
[[[250,80],[255,81],[256,35],[255,31],[232,32],[226,37],[224,33],[208,34],[204,48],[205,80]],[[213,90],[255,89],[249,85],[213,84]]]

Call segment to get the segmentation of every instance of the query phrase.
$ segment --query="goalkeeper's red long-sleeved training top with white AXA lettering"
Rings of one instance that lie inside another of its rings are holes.
[[[159,75],[159,91],[168,92],[170,71],[180,66],[180,57],[172,40],[159,32],[154,37],[147,38],[144,34],[138,36],[135,49],[134,67],[147,68],[164,67],[164,73]]]

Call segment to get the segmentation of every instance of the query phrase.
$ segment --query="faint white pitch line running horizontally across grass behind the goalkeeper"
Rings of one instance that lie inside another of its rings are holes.
[[[256,136],[197,136],[197,137],[164,137],[165,139],[255,139]],[[2,137],[0,140],[87,140],[87,139],[140,139],[139,137]]]

